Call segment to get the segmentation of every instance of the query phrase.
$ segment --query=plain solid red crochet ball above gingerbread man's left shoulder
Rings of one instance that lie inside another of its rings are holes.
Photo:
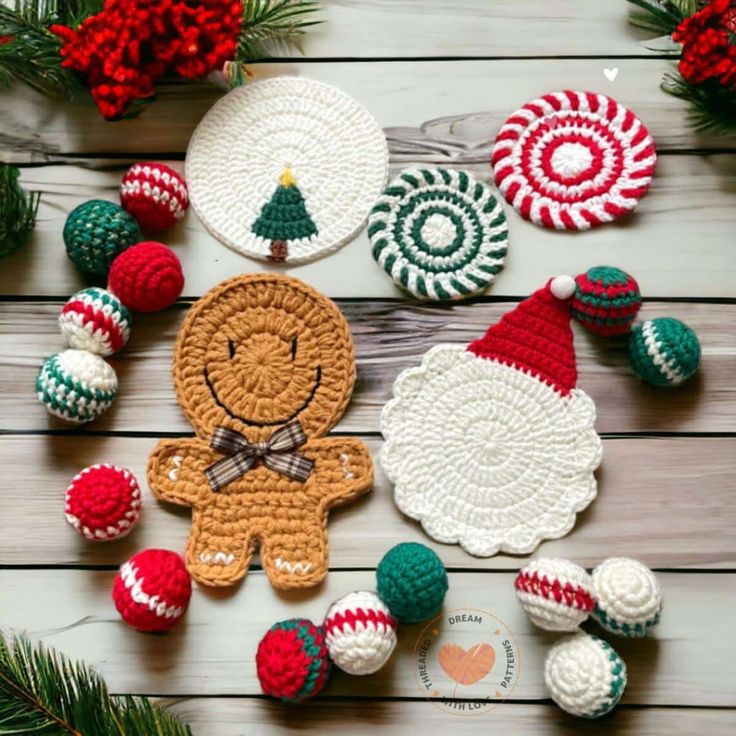
[[[158,312],[184,288],[181,262],[171,248],[146,241],[124,250],[112,263],[107,288],[134,312]]]

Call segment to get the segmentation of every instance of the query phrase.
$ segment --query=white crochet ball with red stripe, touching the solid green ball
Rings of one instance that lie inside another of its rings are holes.
[[[332,661],[350,675],[377,672],[396,646],[396,621],[370,591],[348,593],[335,601],[324,627]]]

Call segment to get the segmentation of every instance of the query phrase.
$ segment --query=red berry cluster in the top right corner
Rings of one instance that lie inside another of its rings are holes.
[[[736,86],[736,0],[713,0],[682,21],[672,38],[682,44],[679,69],[688,82]]]

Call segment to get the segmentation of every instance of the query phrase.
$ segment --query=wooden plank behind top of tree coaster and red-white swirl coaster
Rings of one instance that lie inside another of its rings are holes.
[[[603,75],[611,66],[619,69],[614,82]],[[304,61],[256,64],[252,71],[256,78],[292,74],[335,84],[362,102],[389,136],[393,128],[418,128],[438,118],[454,120],[462,130],[465,118],[477,117],[483,122],[482,140],[491,141],[514,110],[562,87],[615,97],[642,118],[661,151],[736,148],[733,137],[693,132],[686,103],[659,89],[671,66],[664,59]],[[181,154],[196,124],[222,93],[205,82],[161,85],[156,102],[141,116],[109,123],[92,104],[49,105],[44,97],[19,87],[4,94],[0,107],[3,158]]]

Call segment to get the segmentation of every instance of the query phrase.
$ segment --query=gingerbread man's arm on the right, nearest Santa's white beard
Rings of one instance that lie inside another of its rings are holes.
[[[373,459],[355,437],[324,437],[309,443],[305,453],[315,460],[314,482],[327,506],[345,503],[373,486]]]

